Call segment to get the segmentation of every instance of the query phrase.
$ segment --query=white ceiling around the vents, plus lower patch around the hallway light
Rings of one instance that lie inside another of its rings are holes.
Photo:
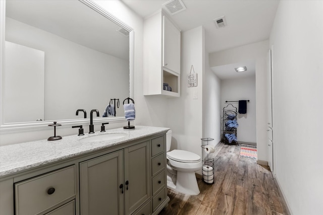
[[[122,0],[139,16],[145,18],[162,8],[169,0]],[[279,1],[276,0],[182,0],[186,10],[171,16],[182,31],[198,26],[205,29],[207,53],[267,40],[270,36]],[[213,20],[225,16],[227,26],[216,28]],[[239,62],[239,66],[250,62]],[[237,78],[234,64],[212,68],[221,79]],[[244,65],[243,65],[244,66]],[[250,67],[247,66],[247,67]],[[254,67],[254,65],[253,65]],[[222,72],[220,71],[222,70]],[[225,73],[224,71],[227,71]],[[228,71],[232,73],[228,74]],[[253,75],[255,70],[253,69]],[[228,76],[226,76],[228,74]]]

